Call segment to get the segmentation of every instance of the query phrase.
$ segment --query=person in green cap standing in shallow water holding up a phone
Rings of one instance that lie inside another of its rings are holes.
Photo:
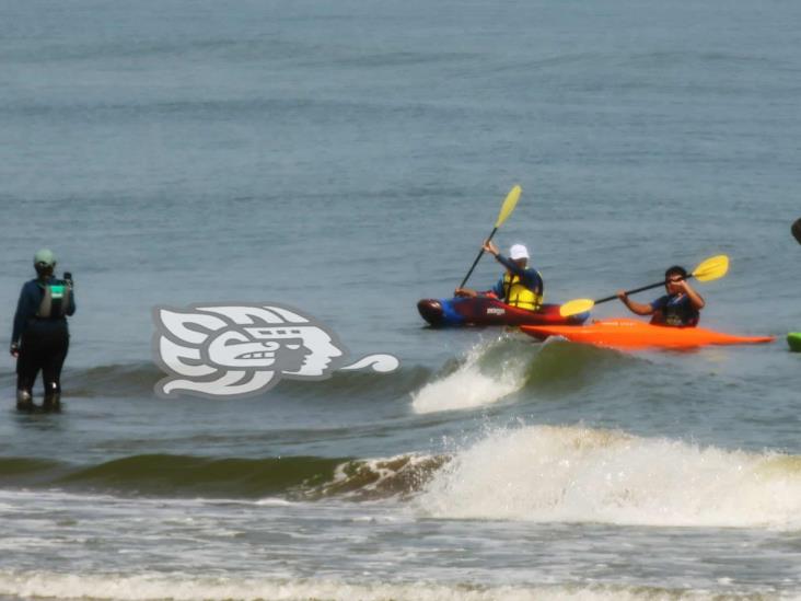
[[[16,408],[34,409],[33,386],[42,371],[45,411],[61,408],[61,368],[69,348],[67,315],[76,312],[69,274],[54,276],[56,255],[42,249],[34,255],[36,278],[23,285],[14,314],[11,355],[16,358]]]

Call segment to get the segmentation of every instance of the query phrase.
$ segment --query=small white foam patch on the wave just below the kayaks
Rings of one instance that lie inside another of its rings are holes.
[[[507,338],[473,347],[462,366],[441,380],[430,382],[411,397],[417,414],[469,409],[491,405],[525,384],[527,358],[507,358],[501,367],[483,368],[481,359]]]

